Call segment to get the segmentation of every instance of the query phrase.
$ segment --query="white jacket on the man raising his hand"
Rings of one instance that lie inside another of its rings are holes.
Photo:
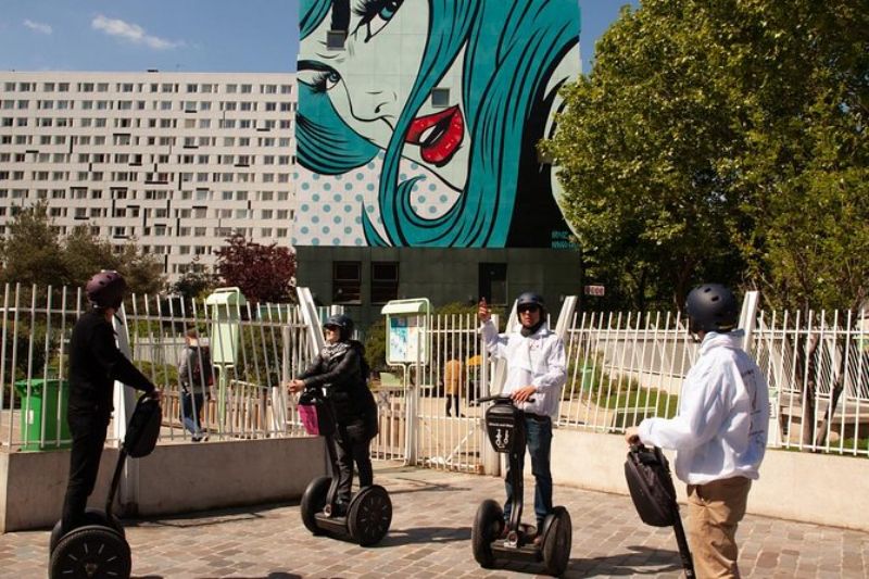
[[[482,338],[492,355],[507,361],[507,378],[502,393],[509,394],[526,386],[537,392],[533,402],[524,402],[519,408],[541,416],[555,417],[558,397],[567,381],[564,342],[546,324],[528,336],[518,331],[498,333],[490,319],[482,325]]]

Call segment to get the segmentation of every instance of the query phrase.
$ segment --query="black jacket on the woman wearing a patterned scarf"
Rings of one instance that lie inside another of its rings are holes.
[[[320,352],[302,374],[305,388],[326,387],[332,401],[336,419],[341,424],[370,414],[374,398],[363,377],[362,344],[350,342],[350,348],[341,355],[329,356]]]

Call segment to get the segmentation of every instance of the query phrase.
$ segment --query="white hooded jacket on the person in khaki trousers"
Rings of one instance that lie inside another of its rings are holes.
[[[646,418],[640,440],[676,454],[676,475],[689,484],[735,476],[758,478],[767,446],[769,392],[742,349],[742,330],[709,332],[688,372],[679,415]]]

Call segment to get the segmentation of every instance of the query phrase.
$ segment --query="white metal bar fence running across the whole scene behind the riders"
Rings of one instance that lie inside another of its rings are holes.
[[[0,445],[65,448],[68,393],[62,385],[84,297],[67,288],[7,285],[0,299]],[[162,443],[191,438],[178,376],[190,328],[212,347],[226,336],[237,343],[231,363],[213,360],[214,383],[199,385],[205,392],[202,426],[212,440],[302,436],[293,397],[284,387],[311,361],[311,328],[299,307],[226,306],[223,317],[235,320],[229,333],[215,331],[221,312],[210,307],[196,300],[134,297],[115,323],[134,362],[164,392]],[[869,455],[867,319],[866,313],[842,312],[756,316],[748,350],[770,387],[771,445]],[[375,377],[375,458],[480,471],[487,441],[481,411],[471,401],[489,391],[494,367],[481,351],[477,326],[474,315],[432,316],[427,363]],[[697,355],[683,320],[669,313],[584,313],[575,316],[565,344],[568,379],[556,424],[604,432],[648,416],[673,416]]]

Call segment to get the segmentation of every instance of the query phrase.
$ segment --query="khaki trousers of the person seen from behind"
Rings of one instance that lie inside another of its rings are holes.
[[[736,526],[751,488],[745,477],[688,486],[688,540],[700,579],[740,577]]]

